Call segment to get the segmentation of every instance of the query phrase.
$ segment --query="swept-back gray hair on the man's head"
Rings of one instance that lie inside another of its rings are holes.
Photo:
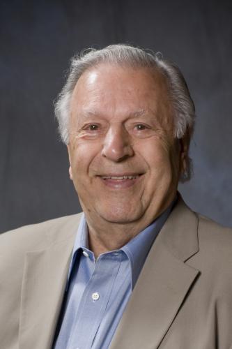
[[[175,137],[183,138],[186,132],[192,135],[195,119],[194,102],[187,88],[185,78],[172,61],[164,59],[160,52],[156,54],[130,45],[109,45],[102,50],[84,50],[79,56],[72,58],[67,81],[55,102],[55,115],[59,123],[61,140],[68,144],[68,124],[70,117],[70,101],[79,77],[89,68],[98,64],[118,64],[132,68],[151,68],[159,70],[167,80],[169,94],[174,110]],[[188,158],[187,171],[182,181],[190,179],[191,161]]]

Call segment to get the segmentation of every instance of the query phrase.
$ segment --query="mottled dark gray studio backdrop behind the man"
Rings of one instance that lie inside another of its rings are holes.
[[[70,57],[132,43],[176,61],[196,103],[186,202],[232,226],[231,1],[0,2],[0,232],[79,211],[53,101]]]

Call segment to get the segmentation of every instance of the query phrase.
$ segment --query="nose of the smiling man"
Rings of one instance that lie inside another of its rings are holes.
[[[102,156],[114,162],[134,155],[130,135],[122,126],[109,128],[102,147]]]

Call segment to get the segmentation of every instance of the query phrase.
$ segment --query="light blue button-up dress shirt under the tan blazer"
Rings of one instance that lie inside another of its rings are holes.
[[[122,248],[95,259],[82,215],[54,349],[107,349],[155,237],[173,204]]]

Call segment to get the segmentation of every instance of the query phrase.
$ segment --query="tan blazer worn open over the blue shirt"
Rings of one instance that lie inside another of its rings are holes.
[[[77,214],[1,235],[1,349],[51,348],[78,223]],[[181,199],[110,346],[155,348],[232,349],[232,230]]]

